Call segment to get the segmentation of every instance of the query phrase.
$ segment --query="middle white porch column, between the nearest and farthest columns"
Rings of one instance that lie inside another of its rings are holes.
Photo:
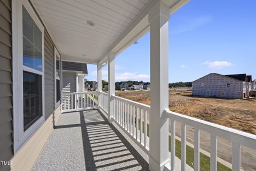
[[[114,103],[112,95],[115,95],[115,54],[108,55],[108,121],[112,122]]]

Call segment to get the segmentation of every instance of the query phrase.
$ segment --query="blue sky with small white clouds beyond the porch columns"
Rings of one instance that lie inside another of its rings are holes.
[[[191,0],[169,20],[169,82],[216,72],[256,78],[256,1]],[[149,33],[116,57],[116,82],[150,80]],[[97,80],[88,64],[88,80]],[[107,67],[103,69],[107,79]]]

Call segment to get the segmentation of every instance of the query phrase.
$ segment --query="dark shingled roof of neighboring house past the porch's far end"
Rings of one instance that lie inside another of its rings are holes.
[[[77,62],[62,62],[62,70],[66,71],[80,71],[83,74],[88,74],[87,64],[86,63],[77,63]]]

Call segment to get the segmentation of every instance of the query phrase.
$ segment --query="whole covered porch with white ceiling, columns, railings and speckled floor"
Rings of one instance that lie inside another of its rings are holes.
[[[241,169],[241,146],[256,149],[255,135],[169,111],[169,18],[187,2],[32,1],[56,41],[61,60],[96,64],[98,83],[97,92],[62,93],[62,115],[34,170],[190,170],[187,127],[194,128],[194,170],[200,170],[200,131],[210,134],[210,170],[217,170],[218,137],[231,142],[231,168]],[[115,95],[116,56],[148,31],[151,106]],[[101,91],[105,64],[108,93]],[[174,153],[177,122],[181,123],[180,160]]]

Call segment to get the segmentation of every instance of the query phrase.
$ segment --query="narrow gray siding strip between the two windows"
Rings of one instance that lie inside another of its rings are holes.
[[[54,112],[54,43],[44,30],[44,114],[47,119]]]

